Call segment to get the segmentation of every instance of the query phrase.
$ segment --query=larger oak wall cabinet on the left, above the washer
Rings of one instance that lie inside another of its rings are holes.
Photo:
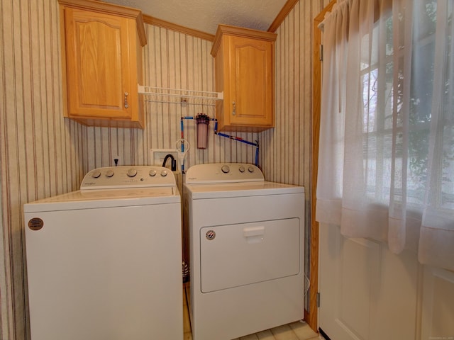
[[[65,117],[90,126],[144,128],[142,13],[92,0],[58,0]]]

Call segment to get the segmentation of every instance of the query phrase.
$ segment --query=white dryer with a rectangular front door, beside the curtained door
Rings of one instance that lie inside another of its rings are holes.
[[[250,164],[187,170],[194,340],[228,340],[304,318],[304,188]]]

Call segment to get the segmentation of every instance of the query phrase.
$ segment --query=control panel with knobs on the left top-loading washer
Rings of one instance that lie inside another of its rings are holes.
[[[109,166],[89,171],[80,190],[176,185],[173,172],[161,166]]]

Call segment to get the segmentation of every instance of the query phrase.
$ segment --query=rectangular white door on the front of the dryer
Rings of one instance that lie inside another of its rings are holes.
[[[297,275],[299,233],[298,218],[201,228],[202,293]]]

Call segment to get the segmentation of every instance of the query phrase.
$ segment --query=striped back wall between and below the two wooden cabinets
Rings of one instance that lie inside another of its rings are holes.
[[[145,33],[148,44],[143,49],[143,85],[215,91],[210,40],[150,24],[145,24]],[[201,105],[189,99],[189,103],[182,105],[171,97],[143,95],[143,98],[144,130],[87,128],[86,171],[113,165],[116,155],[120,157],[121,165],[152,164],[150,149],[176,149],[176,142],[181,138],[181,117],[204,113],[214,118],[214,102]],[[186,169],[209,162],[254,162],[255,147],[214,135],[214,122],[209,125],[211,133],[207,149],[196,149],[195,129],[195,120],[184,120],[184,139],[190,146],[184,164]],[[238,136],[257,140],[253,133],[240,133]]]

